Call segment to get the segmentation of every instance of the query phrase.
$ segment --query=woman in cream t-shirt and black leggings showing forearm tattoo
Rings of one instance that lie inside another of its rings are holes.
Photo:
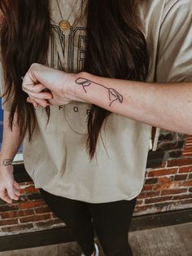
[[[1,198],[20,196],[11,164],[24,139],[28,174],[83,253],[98,255],[95,229],[105,254],[132,255],[127,234],[151,126],[191,134],[190,0],[0,7]]]

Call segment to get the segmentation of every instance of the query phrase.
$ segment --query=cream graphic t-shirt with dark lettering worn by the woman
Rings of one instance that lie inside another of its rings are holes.
[[[85,20],[68,31],[55,1],[51,3],[51,33],[47,64],[68,73],[81,72],[85,60]],[[81,10],[81,0],[59,0],[70,23]],[[192,80],[192,2],[190,0],[143,1],[142,19],[151,53],[148,82]],[[4,106],[8,110],[7,106]],[[131,200],[142,190],[151,126],[111,113],[98,139],[96,157],[89,161],[85,149],[89,104],[72,102],[37,108],[33,140],[24,139],[24,165],[37,188],[70,199],[92,203]]]

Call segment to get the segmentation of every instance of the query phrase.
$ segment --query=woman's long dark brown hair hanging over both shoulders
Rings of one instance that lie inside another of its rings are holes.
[[[102,76],[145,81],[149,58],[142,33],[140,4],[145,0],[87,0],[87,48],[84,71]],[[11,98],[10,126],[15,111],[22,134],[32,139],[36,118],[26,103],[21,79],[34,62],[45,64],[49,46],[48,0],[1,0],[1,61],[5,93]],[[88,118],[87,148],[94,157],[98,135],[110,112],[92,105]]]

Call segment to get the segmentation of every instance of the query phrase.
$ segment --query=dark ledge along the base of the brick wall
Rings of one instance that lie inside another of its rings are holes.
[[[163,214],[150,214],[133,217],[131,232],[190,222],[192,222],[192,209]],[[68,227],[53,228],[40,232],[28,232],[19,235],[0,236],[0,252],[45,245],[56,245],[72,241],[74,241],[74,239],[72,237],[72,232]]]

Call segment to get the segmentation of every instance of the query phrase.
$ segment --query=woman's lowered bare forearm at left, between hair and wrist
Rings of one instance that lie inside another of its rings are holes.
[[[15,120],[16,120],[15,113]],[[9,127],[9,112],[4,111],[3,117],[3,137],[2,137],[2,149],[1,149],[1,166],[11,165],[15,154],[20,148],[24,136],[20,136],[20,128],[16,125],[14,120],[13,130]]]

